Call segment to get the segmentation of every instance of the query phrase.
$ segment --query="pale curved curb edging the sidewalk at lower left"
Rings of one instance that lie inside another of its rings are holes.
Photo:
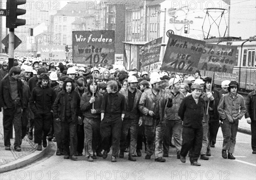
[[[3,166],[0,167],[0,173],[11,171],[14,169],[18,169],[22,166],[26,166],[29,163],[34,162],[35,160],[42,158],[44,154],[51,149],[52,144],[48,143],[47,147],[43,149],[42,151],[37,151],[35,149],[34,152],[32,152],[29,155],[24,156],[23,158],[13,160],[10,163],[4,164]]]

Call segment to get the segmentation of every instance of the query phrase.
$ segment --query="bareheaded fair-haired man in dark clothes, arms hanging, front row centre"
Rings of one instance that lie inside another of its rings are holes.
[[[125,97],[118,93],[118,85],[116,81],[109,81],[107,84],[107,92],[103,96],[101,107],[101,124],[100,134],[102,136],[103,159],[108,157],[111,147],[112,136],[112,159],[116,162],[116,156],[119,152],[120,135],[122,121],[125,117]]]

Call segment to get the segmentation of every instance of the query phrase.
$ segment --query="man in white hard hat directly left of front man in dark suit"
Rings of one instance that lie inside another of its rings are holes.
[[[180,103],[185,98],[184,94],[180,92],[180,81],[177,78],[169,80],[169,87],[171,88],[172,107],[166,108],[167,126],[163,138],[163,157],[169,157],[170,138],[173,132],[174,144],[177,150],[177,159],[180,158],[181,149],[181,133],[182,121],[178,115]]]

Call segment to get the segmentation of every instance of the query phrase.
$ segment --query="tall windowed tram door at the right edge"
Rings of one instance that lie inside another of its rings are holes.
[[[255,49],[248,49],[247,52],[246,89],[255,90],[256,86],[256,54]]]

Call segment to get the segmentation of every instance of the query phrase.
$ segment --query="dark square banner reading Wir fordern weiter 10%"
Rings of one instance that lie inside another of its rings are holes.
[[[73,62],[81,64],[114,64],[114,31],[73,31]]]

